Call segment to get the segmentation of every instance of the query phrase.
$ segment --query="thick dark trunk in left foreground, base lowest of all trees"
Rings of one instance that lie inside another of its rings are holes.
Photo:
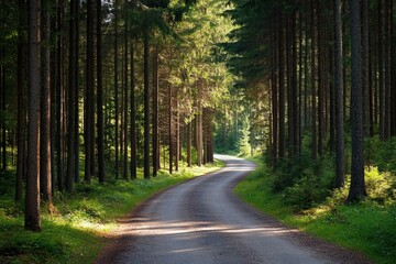
[[[40,231],[40,1],[29,1],[29,123],[24,227]]]

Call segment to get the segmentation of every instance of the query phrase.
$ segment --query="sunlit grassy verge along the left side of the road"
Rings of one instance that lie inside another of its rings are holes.
[[[23,206],[0,191],[0,263],[92,263],[114,228],[116,220],[153,194],[223,166],[182,168],[150,180],[80,184],[73,194],[57,193],[57,212],[42,210],[42,232],[23,228]],[[10,175],[11,176],[11,175]],[[6,182],[3,178],[2,180]],[[3,184],[3,183],[0,183]]]

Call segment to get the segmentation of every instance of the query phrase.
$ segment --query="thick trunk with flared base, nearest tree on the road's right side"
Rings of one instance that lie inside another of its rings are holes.
[[[362,101],[362,50],[361,50],[361,3],[350,0],[351,12],[351,50],[352,50],[352,86],[351,86],[351,134],[352,166],[351,187],[348,201],[360,200],[366,196],[364,183],[363,155],[363,101]]]

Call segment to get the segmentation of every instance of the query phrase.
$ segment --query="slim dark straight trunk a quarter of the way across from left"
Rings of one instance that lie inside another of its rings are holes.
[[[102,36],[101,36],[101,0],[97,6],[97,95],[98,95],[98,175],[99,183],[105,183],[105,131],[103,131],[103,80],[102,80]]]

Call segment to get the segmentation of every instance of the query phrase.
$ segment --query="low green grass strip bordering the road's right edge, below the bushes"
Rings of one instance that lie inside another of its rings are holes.
[[[371,176],[367,190],[371,191]],[[296,210],[282,194],[274,194],[272,177],[261,164],[235,187],[235,193],[255,208],[316,237],[362,252],[376,263],[395,263],[396,206],[377,202],[372,197],[346,206],[348,189],[334,191],[324,202]],[[376,188],[381,184],[377,180]],[[374,186],[373,186],[374,187]],[[373,191],[372,191],[373,193]],[[378,194],[373,196],[377,197]]]

